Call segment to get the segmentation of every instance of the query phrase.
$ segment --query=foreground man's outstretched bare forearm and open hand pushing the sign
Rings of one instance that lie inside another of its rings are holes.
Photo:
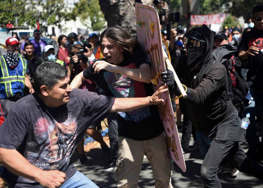
[[[168,88],[165,84],[155,91],[152,96],[138,98],[116,98],[111,108],[111,112],[127,112],[144,106],[159,104],[163,102],[161,95],[166,91],[168,91]]]

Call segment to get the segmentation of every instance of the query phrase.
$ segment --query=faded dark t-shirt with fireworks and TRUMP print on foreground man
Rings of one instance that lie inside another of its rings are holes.
[[[75,172],[70,157],[89,125],[106,118],[113,97],[73,89],[70,101],[58,108],[46,106],[36,93],[18,100],[0,127],[0,147],[16,149],[27,161],[43,170],[60,170],[69,180]],[[10,187],[42,187],[16,176],[6,168]]]

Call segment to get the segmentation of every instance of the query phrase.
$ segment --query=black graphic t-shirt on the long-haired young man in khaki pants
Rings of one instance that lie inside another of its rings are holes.
[[[107,61],[106,59],[98,59]],[[137,47],[133,55],[127,55],[118,66],[137,69],[146,63],[146,57],[141,48]],[[101,70],[94,74],[94,69],[89,66],[84,70],[83,76],[101,87],[108,96],[146,97],[153,94],[152,84],[139,82],[116,72]],[[149,140],[162,133],[163,125],[156,105],[145,106],[130,112],[118,112],[119,136],[135,140]]]

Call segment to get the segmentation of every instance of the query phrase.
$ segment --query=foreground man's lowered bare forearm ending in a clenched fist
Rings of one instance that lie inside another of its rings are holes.
[[[41,170],[32,165],[15,149],[0,148],[0,162],[12,173],[37,181],[44,187],[59,187],[66,174],[58,170]]]

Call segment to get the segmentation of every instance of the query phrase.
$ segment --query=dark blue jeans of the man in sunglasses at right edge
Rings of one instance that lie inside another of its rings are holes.
[[[257,106],[263,106],[263,90],[256,90],[253,88],[249,89],[249,93],[252,95],[254,100],[249,104],[249,106],[246,107],[246,113],[250,113],[250,124],[249,127],[247,128],[247,133],[246,133],[246,140],[249,144],[249,147],[257,147],[260,144],[259,137],[257,136],[257,129],[256,129],[256,121],[255,121],[255,116],[256,116],[256,108]],[[260,116],[262,118],[262,110],[260,110]],[[263,135],[262,135],[263,136]],[[262,140],[261,140],[261,143]]]

